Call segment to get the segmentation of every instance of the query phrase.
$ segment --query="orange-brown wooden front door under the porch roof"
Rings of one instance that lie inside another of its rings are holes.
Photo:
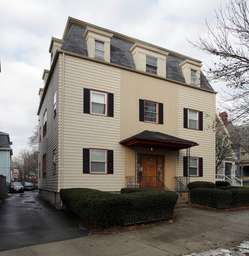
[[[156,156],[144,156],[144,176],[146,187],[155,187],[157,183]],[[145,185],[145,184],[144,184]]]

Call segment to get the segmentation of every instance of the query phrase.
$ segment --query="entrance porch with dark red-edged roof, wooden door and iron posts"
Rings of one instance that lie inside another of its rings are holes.
[[[156,131],[143,131],[120,143],[125,146],[127,188],[175,190],[189,201],[189,168],[184,177],[179,176],[179,150],[186,149],[189,159],[190,148],[197,143]]]

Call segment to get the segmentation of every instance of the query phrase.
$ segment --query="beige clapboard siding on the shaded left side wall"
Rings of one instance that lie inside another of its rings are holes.
[[[39,143],[39,158],[38,161],[41,166],[40,174],[39,174],[39,188],[44,188],[47,190],[54,189],[54,191],[58,191],[58,176],[59,176],[59,165],[58,165],[58,156],[59,156],[59,147],[58,147],[58,139],[59,139],[59,60],[56,63],[56,67],[52,78],[49,82],[48,91],[46,93],[46,97],[43,102],[43,106],[39,113],[39,127],[41,127],[41,142]],[[54,117],[54,93],[57,93],[57,114]],[[43,136],[43,115],[47,110],[47,133]],[[56,150],[57,157],[57,165],[56,165],[56,173],[53,174],[53,150]],[[46,154],[46,177],[42,177],[43,170],[43,155]]]

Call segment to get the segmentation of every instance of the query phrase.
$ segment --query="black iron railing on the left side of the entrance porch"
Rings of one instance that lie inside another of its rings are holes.
[[[158,188],[161,190],[169,190],[157,176],[126,176],[127,188]]]

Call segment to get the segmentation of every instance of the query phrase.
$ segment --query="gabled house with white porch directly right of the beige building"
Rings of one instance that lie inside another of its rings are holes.
[[[224,122],[223,122],[224,120]],[[242,186],[242,181],[236,176],[236,147],[231,140],[227,130],[227,113],[218,113],[216,111],[216,169],[215,180],[227,181],[233,186]]]

